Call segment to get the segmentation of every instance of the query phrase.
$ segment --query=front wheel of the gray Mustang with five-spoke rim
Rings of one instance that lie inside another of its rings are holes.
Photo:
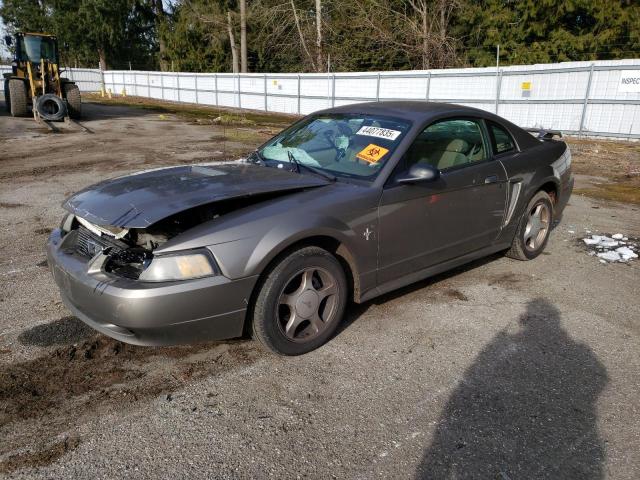
[[[312,281],[307,281],[305,284],[304,278],[307,272],[311,272],[307,278]],[[297,282],[298,275],[301,278],[300,287],[294,292],[287,291],[286,289],[292,283]],[[333,291],[335,286],[335,293],[321,298],[326,279],[329,279],[328,289]],[[305,285],[310,287],[305,289]],[[309,297],[304,295],[309,294],[313,297],[316,293],[318,295],[314,307],[311,307],[310,302],[305,301]],[[251,318],[253,336],[264,347],[281,355],[301,355],[310,352],[323,345],[334,334],[344,315],[347,295],[344,270],[333,255],[318,247],[304,247],[296,250],[272,267],[259,286]],[[321,327],[317,328],[314,320],[307,319],[313,315],[299,313],[298,307],[296,307],[298,313],[294,314],[293,309],[290,308],[291,303],[282,303],[285,297],[297,298],[297,305],[301,305],[302,310],[305,308],[304,305],[311,310],[315,308],[319,313],[315,318],[319,319]],[[289,312],[288,318],[287,312]],[[296,326],[289,329],[289,324],[294,323],[291,321],[294,315],[297,315]],[[322,318],[323,316],[325,319]]]

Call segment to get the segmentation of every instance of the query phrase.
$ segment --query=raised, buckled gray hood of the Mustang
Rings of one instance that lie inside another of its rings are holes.
[[[76,193],[62,206],[96,225],[146,228],[207,203],[328,183],[313,175],[253,164],[192,165],[107,180]]]

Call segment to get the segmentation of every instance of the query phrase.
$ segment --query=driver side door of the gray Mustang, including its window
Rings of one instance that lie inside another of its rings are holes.
[[[378,283],[489,246],[506,203],[506,173],[494,160],[482,120],[432,123],[407,150],[394,176],[413,164],[440,170],[434,181],[383,189],[379,206]]]

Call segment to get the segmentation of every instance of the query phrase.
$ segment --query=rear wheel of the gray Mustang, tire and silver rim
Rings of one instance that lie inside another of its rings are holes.
[[[540,220],[534,220],[536,212]],[[516,235],[507,256],[516,260],[533,260],[540,255],[549,241],[553,224],[553,202],[547,192],[536,193],[520,218]],[[535,234],[532,234],[535,231]]]

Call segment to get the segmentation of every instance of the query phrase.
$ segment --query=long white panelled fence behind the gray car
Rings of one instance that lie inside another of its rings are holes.
[[[7,68],[7,67],[0,67]],[[474,106],[522,127],[640,138],[640,59],[379,73],[176,73],[70,69],[83,91],[308,114],[373,100]]]

